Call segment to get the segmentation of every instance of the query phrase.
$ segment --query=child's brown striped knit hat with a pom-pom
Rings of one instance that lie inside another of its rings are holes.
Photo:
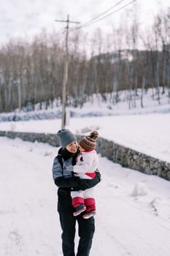
[[[85,149],[85,151],[89,149],[95,149],[96,148],[96,139],[98,138],[98,132],[93,131],[90,133],[89,136],[85,136],[80,140],[79,145]]]

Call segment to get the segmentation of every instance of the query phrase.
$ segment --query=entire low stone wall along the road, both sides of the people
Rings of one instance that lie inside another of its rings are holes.
[[[49,143],[52,146],[60,146],[59,140],[54,134],[32,133],[32,132],[4,132],[0,131],[0,136],[8,138],[21,138],[31,142]],[[77,135],[79,141],[82,136]],[[147,154],[142,154],[131,148],[118,145],[113,141],[98,138],[96,150],[101,157],[107,157],[113,162],[117,162],[123,167],[139,170],[142,173],[160,176],[170,181],[170,163],[161,161]]]

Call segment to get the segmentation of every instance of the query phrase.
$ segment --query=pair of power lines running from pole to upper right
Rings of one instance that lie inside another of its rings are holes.
[[[123,0],[123,1],[125,1],[125,0]],[[76,29],[70,29],[70,31],[74,31],[74,30],[77,30],[77,29],[82,29],[82,28],[85,28],[87,26],[93,25],[93,23],[96,23],[96,22],[98,22],[100,20],[104,20],[105,18],[109,17],[110,15],[114,14],[115,12],[119,12],[120,10],[123,10],[125,7],[127,7],[129,4],[132,4],[134,1],[136,1],[136,0],[130,1],[130,2],[128,2],[128,4],[123,5],[123,7],[120,7],[119,9],[115,10],[114,12],[110,12],[108,15],[105,15],[104,17],[99,18],[99,17],[101,17],[101,15],[104,15],[104,13],[108,12],[113,7],[116,7],[118,4],[120,4],[122,2],[122,1],[119,1],[117,4],[115,4],[115,6],[110,7],[105,12],[102,12],[100,15],[96,16],[96,18],[93,18],[92,20],[89,20],[88,22],[82,24],[82,26],[79,26]],[[99,19],[97,19],[97,18],[99,18]]]

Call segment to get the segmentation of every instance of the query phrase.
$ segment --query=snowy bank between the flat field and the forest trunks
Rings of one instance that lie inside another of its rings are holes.
[[[158,102],[158,94],[154,89],[144,91],[138,90],[137,95],[132,93],[129,99],[129,91],[119,91],[117,102],[115,102],[115,94],[94,94],[88,97],[87,102],[82,108],[74,108],[72,100],[70,105],[66,106],[66,111],[71,117],[88,117],[88,116],[118,116],[118,115],[136,115],[146,113],[170,113],[169,90],[163,91],[160,88],[160,102]],[[143,104],[143,108],[141,106]],[[20,112],[16,109],[11,113],[0,113],[0,121],[27,121],[61,118],[61,105],[53,102],[53,105],[36,104],[34,111],[28,111],[23,108]],[[42,108],[40,110],[40,107]]]

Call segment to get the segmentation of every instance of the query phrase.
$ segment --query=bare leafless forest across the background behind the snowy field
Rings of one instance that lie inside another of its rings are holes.
[[[31,41],[12,39],[0,46],[0,112],[34,110],[37,102],[61,105],[64,46],[65,31],[45,29]],[[118,92],[127,90],[128,108],[135,108],[140,89],[143,107],[148,88],[159,103],[165,88],[170,98],[170,8],[144,31],[133,12],[109,34],[69,31],[66,105],[81,107],[93,94],[104,100],[109,95],[115,105]]]

